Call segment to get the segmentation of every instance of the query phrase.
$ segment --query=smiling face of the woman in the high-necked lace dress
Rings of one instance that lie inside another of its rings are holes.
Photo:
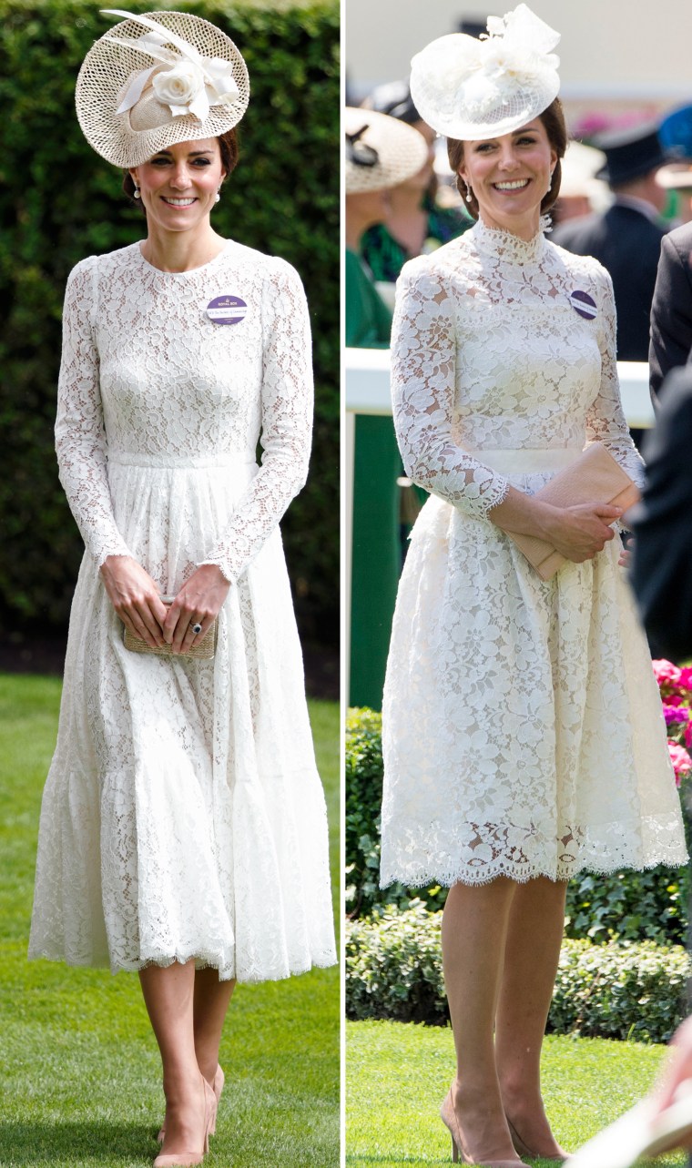
[[[458,173],[476,195],[487,227],[531,238],[538,231],[541,200],[556,161],[546,127],[534,118],[511,134],[465,141]]]

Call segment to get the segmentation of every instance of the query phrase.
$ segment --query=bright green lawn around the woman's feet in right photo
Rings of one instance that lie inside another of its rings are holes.
[[[648,1091],[664,1047],[551,1035],[544,1047],[544,1098],[558,1140],[581,1147]],[[346,1163],[400,1168],[451,1161],[451,1140],[438,1117],[454,1068],[449,1028],[401,1022],[346,1027]],[[686,1163],[681,1152],[658,1168]],[[554,1168],[534,1160],[539,1168]]]

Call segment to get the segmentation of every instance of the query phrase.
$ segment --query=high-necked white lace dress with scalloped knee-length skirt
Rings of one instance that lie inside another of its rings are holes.
[[[392,387],[407,473],[431,498],[387,667],[382,884],[683,863],[620,538],[544,582],[487,517],[594,440],[642,481],[608,273],[542,232],[477,224],[403,269]]]

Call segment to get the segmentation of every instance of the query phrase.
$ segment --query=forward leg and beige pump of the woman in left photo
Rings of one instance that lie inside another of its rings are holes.
[[[198,1152],[205,1139],[205,1085],[194,1044],[194,961],[139,973],[141,992],[161,1052],[166,1096],[164,1152]]]

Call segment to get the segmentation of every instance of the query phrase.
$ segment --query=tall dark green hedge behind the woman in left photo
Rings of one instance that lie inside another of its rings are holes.
[[[179,7],[227,29],[251,100],[241,161],[214,213],[222,235],[283,256],[311,306],[317,409],[312,473],[284,524],[304,634],[335,642],[339,582],[338,0]],[[78,259],[140,238],[120,173],[74,110],[84,54],[111,25],[92,0],[0,0],[0,616],[64,626],[82,554],[53,450],[61,308]]]

